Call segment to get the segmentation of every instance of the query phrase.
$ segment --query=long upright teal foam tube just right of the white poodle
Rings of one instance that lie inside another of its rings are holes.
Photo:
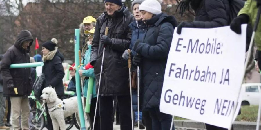
[[[84,112],[81,100],[81,87],[80,87],[80,75],[79,75],[79,49],[80,49],[80,29],[75,29],[75,41],[74,41],[74,56],[75,56],[75,84],[76,84],[76,94],[77,94],[77,102],[78,102],[78,111],[81,123],[81,130],[86,130],[85,128],[85,120],[84,120]]]

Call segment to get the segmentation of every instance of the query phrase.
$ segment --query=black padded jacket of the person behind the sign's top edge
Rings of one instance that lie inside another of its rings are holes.
[[[191,8],[195,11],[195,28],[214,28],[229,25],[228,0],[191,0]]]

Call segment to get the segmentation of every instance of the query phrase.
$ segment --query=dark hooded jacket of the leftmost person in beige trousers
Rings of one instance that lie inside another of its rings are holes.
[[[10,69],[11,64],[30,63],[30,42],[27,49],[23,49],[22,43],[31,40],[33,42],[32,34],[27,30],[22,30],[17,36],[14,45],[11,46],[5,53],[1,63],[1,73],[3,75],[3,93],[4,96],[21,97],[29,96],[32,92],[32,79],[30,77],[30,68],[13,68]],[[18,94],[15,94],[14,89],[8,89],[7,83],[12,80],[14,88],[17,88]]]

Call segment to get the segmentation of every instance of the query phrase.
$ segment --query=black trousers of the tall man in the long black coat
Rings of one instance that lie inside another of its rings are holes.
[[[113,130],[113,99],[114,96],[100,96],[101,130]],[[119,117],[122,130],[132,130],[130,96],[117,96]]]

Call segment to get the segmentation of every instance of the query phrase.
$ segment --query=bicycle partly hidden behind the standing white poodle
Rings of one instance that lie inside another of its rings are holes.
[[[71,97],[75,94],[72,91],[66,91],[65,96]],[[45,104],[35,99],[34,96],[29,96],[29,104],[32,107],[30,110],[30,130],[42,130],[46,124],[46,110]],[[35,104],[34,104],[35,103]],[[65,118],[66,130],[69,130],[75,125],[77,129],[80,129],[75,114]]]

